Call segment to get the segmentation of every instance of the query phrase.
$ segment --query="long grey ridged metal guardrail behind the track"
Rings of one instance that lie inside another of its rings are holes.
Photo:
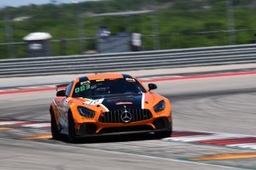
[[[121,72],[251,62],[256,62],[255,44],[226,45],[134,53],[5,59],[0,61],[0,77]]]

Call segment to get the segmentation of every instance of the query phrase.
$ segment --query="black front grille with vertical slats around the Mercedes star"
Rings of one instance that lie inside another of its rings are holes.
[[[121,118],[124,112],[129,112],[131,116],[130,121],[126,123],[146,121],[152,117],[152,113],[148,109],[120,109],[102,113],[98,121],[101,123],[125,123]]]

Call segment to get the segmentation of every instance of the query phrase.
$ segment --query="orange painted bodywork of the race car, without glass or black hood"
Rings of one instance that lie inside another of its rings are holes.
[[[123,78],[123,77],[124,77],[123,74],[119,74],[119,73],[105,73],[105,74],[90,75],[87,78],[89,81],[104,81],[106,79],[111,80],[111,79],[117,79],[117,78]],[[138,81],[136,77],[131,77],[131,78]],[[140,120],[140,121],[133,121],[133,122],[117,122],[117,123],[116,122],[103,123],[99,121],[99,117],[104,117],[104,113],[110,112],[110,110],[107,109],[106,105],[102,105],[101,103],[98,102],[99,100],[94,101],[88,98],[73,97],[73,93],[75,89],[74,87],[79,81],[80,81],[80,78],[76,78],[74,79],[74,81],[72,81],[73,84],[70,89],[69,96],[55,97],[54,101],[51,103],[51,109],[54,111],[56,124],[58,125],[58,128],[63,131],[63,133],[67,133],[68,131],[68,130],[65,130],[68,126],[68,114],[72,114],[74,118],[74,128],[76,132],[79,133],[80,135],[86,135],[86,134],[97,135],[98,133],[102,133],[103,129],[107,129],[107,128],[137,127],[139,125],[148,125],[153,130],[155,130],[155,129],[158,129],[158,127],[156,127],[156,125],[158,124],[155,123],[155,120],[161,117],[165,118],[165,121],[167,121],[167,124],[169,123],[168,125],[170,125],[170,127],[167,127],[167,128],[171,128],[172,117],[171,117],[170,101],[166,97],[162,97],[157,93],[153,93],[149,91],[139,81],[138,83],[142,85],[142,87],[145,89],[145,93],[142,93],[141,109],[149,110],[150,113],[152,114],[152,117],[150,117],[150,119],[147,119],[147,120]],[[156,113],[154,111],[154,106],[157,105],[158,102],[162,100],[165,103],[165,109]],[[126,102],[124,102],[124,104],[126,104]],[[91,111],[93,111],[95,113],[94,117],[82,117],[81,114],[79,114],[78,106],[85,107],[86,109],[90,109]],[[82,132],[82,125],[86,125],[87,128],[88,128],[88,125],[90,125],[90,127],[94,128],[93,132]]]

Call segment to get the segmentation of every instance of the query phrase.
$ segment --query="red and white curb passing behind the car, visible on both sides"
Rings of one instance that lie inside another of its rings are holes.
[[[50,128],[50,122],[0,120],[0,126]],[[231,133],[174,131],[171,137],[166,137],[162,140],[167,142],[213,144],[230,148],[248,148],[256,150],[256,136],[238,135]]]

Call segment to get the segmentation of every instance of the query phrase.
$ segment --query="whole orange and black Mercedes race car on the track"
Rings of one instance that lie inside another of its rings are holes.
[[[57,85],[57,97],[50,105],[53,138],[61,133],[70,142],[78,136],[130,132],[170,136],[170,101],[151,92],[157,85],[148,86],[146,89],[135,77],[118,73],[79,77],[70,84]]]

